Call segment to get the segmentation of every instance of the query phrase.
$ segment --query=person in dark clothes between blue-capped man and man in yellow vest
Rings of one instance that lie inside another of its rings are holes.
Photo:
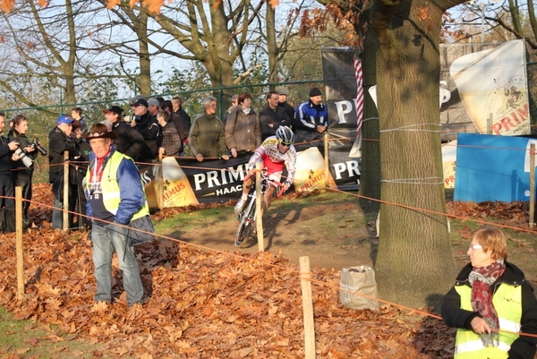
[[[128,126],[127,126],[128,127]],[[130,128],[130,127],[129,127]],[[84,194],[84,186],[82,181],[88,172],[88,163],[90,161],[91,147],[90,143],[82,137],[81,123],[79,121],[72,122],[71,136],[74,138],[74,145],[76,150],[81,154],[81,157],[77,161],[73,162],[73,169],[75,171],[75,183],[76,183],[76,206],[75,211],[78,213],[78,227],[88,228],[91,225],[90,219],[86,217],[86,195]],[[71,175],[71,173],[70,173]]]

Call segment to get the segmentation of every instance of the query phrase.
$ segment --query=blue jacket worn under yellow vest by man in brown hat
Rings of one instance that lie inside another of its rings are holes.
[[[92,200],[90,198],[90,194],[92,193],[90,193],[90,190],[86,187],[86,198],[88,198],[86,214],[96,219],[103,219],[109,222],[115,220],[119,224],[126,225],[131,221],[132,216],[143,208],[146,198],[141,184],[138,167],[136,167],[132,158],[123,158],[116,169],[107,166],[108,159],[114,156],[114,153],[115,147],[112,147],[110,154],[105,158],[105,163],[103,164],[104,169],[101,182],[107,180],[108,171],[117,171],[117,184],[120,189],[120,202],[117,212],[114,216],[105,209],[102,200],[100,203],[97,200]],[[90,167],[88,168],[88,175],[86,176],[87,181],[90,181],[90,174],[95,167],[95,163],[95,153],[90,152]],[[102,196],[100,196],[100,198],[102,199]]]

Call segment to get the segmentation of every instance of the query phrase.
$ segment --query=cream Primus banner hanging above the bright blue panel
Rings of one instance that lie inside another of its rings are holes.
[[[524,40],[441,45],[443,132],[529,134],[525,58]]]

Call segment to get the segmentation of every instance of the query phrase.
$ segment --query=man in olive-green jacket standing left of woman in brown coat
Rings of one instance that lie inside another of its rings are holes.
[[[229,159],[226,149],[224,124],[217,117],[217,98],[203,98],[203,113],[192,123],[188,144],[192,154],[203,161],[203,158],[217,157]]]

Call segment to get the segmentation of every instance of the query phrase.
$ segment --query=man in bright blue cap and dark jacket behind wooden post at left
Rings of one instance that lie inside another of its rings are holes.
[[[53,184],[54,209],[52,209],[52,227],[61,229],[64,222],[64,151],[69,152],[69,160],[81,157],[71,137],[72,118],[61,115],[56,119],[55,128],[48,133],[48,183]],[[74,167],[69,167],[69,196],[77,193]],[[74,212],[76,201],[66,200],[67,209]],[[69,228],[72,228],[72,213],[69,213]]]

